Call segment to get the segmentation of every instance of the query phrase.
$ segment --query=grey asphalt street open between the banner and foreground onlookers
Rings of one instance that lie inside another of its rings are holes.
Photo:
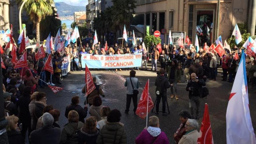
[[[103,105],[109,106],[111,109],[118,109],[121,111],[121,122],[125,125],[124,127],[127,133],[127,143],[134,143],[136,136],[138,136],[146,126],[146,119],[143,120],[139,118],[137,115],[134,115],[132,111],[130,111],[128,115],[124,113],[126,104],[126,87],[124,86],[124,83],[125,78],[129,77],[129,71],[91,71],[91,73],[97,77],[97,83],[101,84],[102,89],[106,95],[106,97],[102,97]],[[156,76],[156,72],[153,71],[136,70],[136,77],[140,82],[140,93],[138,95],[138,100],[141,96],[147,79],[149,79],[149,92],[152,100],[155,101],[156,96],[154,81]],[[67,78],[62,81],[61,87],[64,88],[62,91],[54,94],[49,88],[39,89],[39,91],[44,91],[47,93],[47,104],[53,105],[54,109],[61,111],[61,116],[58,122],[61,128],[63,128],[63,126],[67,123],[67,118],[64,116],[65,107],[71,103],[72,96],[78,95],[80,97],[80,105],[84,106],[83,102],[85,98],[81,93],[81,89],[84,86],[84,79],[84,71],[72,72],[72,74],[69,74]],[[207,79],[207,87],[209,88],[210,95],[207,97],[207,99],[201,99],[199,124],[202,121],[204,104],[207,103],[209,105],[209,114],[214,143],[226,143],[225,115],[232,84],[233,83],[221,81],[221,75],[218,75],[216,81],[210,81]],[[175,99],[170,99],[170,89],[168,89],[167,95],[170,114],[167,116],[162,116],[161,113],[159,113],[158,115],[160,119],[160,128],[166,133],[170,143],[175,143],[173,140],[173,134],[176,132],[180,125],[178,113],[182,110],[189,110],[189,97],[185,88],[186,83],[178,83],[178,101]],[[256,129],[256,98],[253,91],[253,89],[248,90],[251,118],[253,121],[254,129]],[[133,105],[131,103],[130,110],[132,109]],[[159,109],[161,109],[161,103]],[[155,114],[149,113],[149,116],[152,115]],[[89,116],[89,114],[87,116]]]

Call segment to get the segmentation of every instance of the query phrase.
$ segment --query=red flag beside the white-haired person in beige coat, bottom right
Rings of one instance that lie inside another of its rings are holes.
[[[198,144],[213,144],[213,137],[212,137],[212,131],[211,131],[211,122],[210,122],[210,117],[209,117],[208,104],[205,104],[205,113],[204,113],[204,117],[202,119],[202,124],[201,124],[199,134],[201,136],[197,140]]]

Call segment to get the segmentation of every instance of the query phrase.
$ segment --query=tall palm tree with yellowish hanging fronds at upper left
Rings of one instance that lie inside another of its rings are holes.
[[[52,15],[53,9],[51,4],[54,3],[53,0],[17,0],[18,5],[20,6],[23,1],[26,1],[24,4],[24,9],[29,15],[32,22],[35,24],[35,33],[36,40],[40,41],[40,21],[48,15]]]

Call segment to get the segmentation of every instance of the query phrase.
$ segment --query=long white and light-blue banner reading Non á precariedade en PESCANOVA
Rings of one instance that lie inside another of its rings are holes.
[[[140,67],[142,53],[123,55],[91,55],[82,54],[82,68],[128,68]]]

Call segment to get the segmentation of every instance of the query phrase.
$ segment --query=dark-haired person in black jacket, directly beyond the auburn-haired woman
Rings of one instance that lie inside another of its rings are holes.
[[[84,118],[86,117],[87,110],[88,110],[87,105],[84,108],[82,108],[80,105],[78,105],[79,104],[79,96],[72,97],[71,102],[72,103],[66,107],[65,117],[67,118],[68,113],[70,111],[74,110],[74,111],[77,111],[77,113],[79,115],[79,121],[84,123]]]

